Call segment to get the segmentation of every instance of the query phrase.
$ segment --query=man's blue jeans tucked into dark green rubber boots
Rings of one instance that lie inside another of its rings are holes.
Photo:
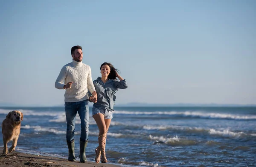
[[[81,102],[65,102],[65,112],[67,121],[67,142],[71,143],[75,139],[76,113],[81,119],[81,141],[88,140],[89,136],[89,105],[88,100]]]

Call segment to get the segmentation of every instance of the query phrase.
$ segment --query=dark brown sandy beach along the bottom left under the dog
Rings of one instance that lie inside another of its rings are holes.
[[[0,164],[1,167],[119,167],[113,164],[96,164],[91,161],[80,163],[79,159],[76,162],[67,161],[58,157],[39,156],[33,154],[12,152],[3,153],[3,148],[0,148]]]

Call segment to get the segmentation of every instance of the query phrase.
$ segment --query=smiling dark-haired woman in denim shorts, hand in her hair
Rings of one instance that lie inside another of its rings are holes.
[[[100,66],[102,77],[93,81],[98,99],[89,98],[93,104],[93,118],[99,128],[99,146],[95,149],[96,157],[95,162],[98,164],[100,159],[102,163],[108,162],[105,146],[107,139],[107,132],[111,119],[113,118],[113,106],[116,101],[116,91],[118,88],[125,89],[128,85],[111,63],[104,62]],[[118,78],[119,80],[117,80]]]

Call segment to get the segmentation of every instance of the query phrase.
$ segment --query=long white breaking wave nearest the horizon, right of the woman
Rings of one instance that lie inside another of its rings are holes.
[[[256,119],[255,115],[242,115],[242,114],[230,114],[230,113],[204,113],[199,111],[119,111],[115,110],[116,114],[129,114],[129,115],[169,115],[169,116],[179,116],[179,117],[198,117],[198,118],[208,118],[208,119]]]

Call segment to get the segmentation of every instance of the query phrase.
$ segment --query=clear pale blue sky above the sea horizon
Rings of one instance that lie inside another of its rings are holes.
[[[57,106],[70,49],[92,79],[111,62],[116,104],[256,104],[255,0],[0,0],[0,104]]]

